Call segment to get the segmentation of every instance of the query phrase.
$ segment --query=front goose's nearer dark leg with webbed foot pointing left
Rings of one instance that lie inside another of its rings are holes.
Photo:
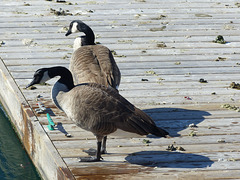
[[[97,152],[96,156],[93,157],[80,157],[79,162],[97,162],[101,161],[103,158],[101,157],[101,146],[102,146],[102,140],[103,136],[96,136],[97,137]]]

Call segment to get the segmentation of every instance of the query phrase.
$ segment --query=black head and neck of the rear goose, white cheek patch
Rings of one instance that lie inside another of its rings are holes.
[[[82,22],[80,20],[74,20],[70,23],[69,29],[68,29],[67,33],[65,34],[65,36],[68,36],[72,33],[77,33],[77,32],[83,32],[86,35],[86,39],[88,41],[87,45],[94,44],[95,36],[94,36],[92,29],[87,24],[85,24],[84,22]]]

